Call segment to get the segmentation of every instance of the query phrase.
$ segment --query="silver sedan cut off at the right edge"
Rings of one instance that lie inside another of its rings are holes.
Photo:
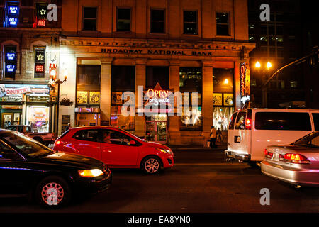
[[[273,145],[264,150],[262,173],[298,187],[319,187],[319,131],[290,145]]]

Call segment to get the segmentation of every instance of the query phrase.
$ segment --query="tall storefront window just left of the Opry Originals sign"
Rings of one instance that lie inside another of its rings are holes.
[[[125,103],[121,97],[123,92],[135,92],[135,67],[113,65],[111,90],[111,126],[133,131],[135,117],[121,114],[122,105]]]

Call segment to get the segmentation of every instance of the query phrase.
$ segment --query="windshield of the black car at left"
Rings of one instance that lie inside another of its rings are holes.
[[[13,149],[30,157],[38,157],[53,153],[50,148],[45,147],[45,145],[38,143],[38,141],[35,141],[22,133],[6,131],[0,133],[0,139],[8,143]]]

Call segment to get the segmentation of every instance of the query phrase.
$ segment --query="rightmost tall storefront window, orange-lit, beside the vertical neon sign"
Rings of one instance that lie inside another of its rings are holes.
[[[213,69],[213,126],[222,131],[234,111],[234,70]]]

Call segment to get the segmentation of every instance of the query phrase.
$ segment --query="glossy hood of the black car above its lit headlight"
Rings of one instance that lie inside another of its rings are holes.
[[[72,165],[77,167],[103,167],[103,162],[96,160],[92,157],[86,157],[84,155],[77,155],[73,153],[52,153],[45,157],[40,157],[41,160],[45,162],[54,162],[60,165]]]

